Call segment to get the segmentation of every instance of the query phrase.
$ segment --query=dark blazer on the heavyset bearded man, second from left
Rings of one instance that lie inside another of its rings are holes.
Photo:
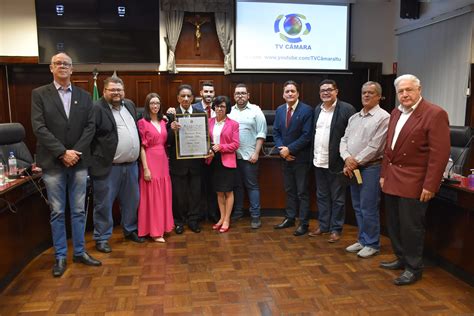
[[[125,108],[130,112],[135,123],[137,122],[137,109],[131,100],[125,99]],[[109,104],[100,98],[94,103],[94,116],[96,132],[91,143],[93,162],[90,174],[96,177],[105,176],[112,168],[115,151],[118,145],[117,124]]]

